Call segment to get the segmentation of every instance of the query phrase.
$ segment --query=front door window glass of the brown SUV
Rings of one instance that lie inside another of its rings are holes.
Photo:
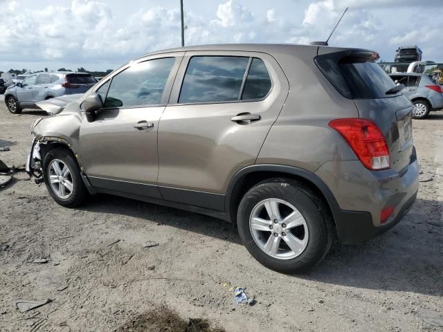
[[[174,57],[134,64],[112,78],[105,107],[160,104]]]

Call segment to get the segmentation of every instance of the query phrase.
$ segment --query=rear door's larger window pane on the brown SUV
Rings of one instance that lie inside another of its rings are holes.
[[[179,102],[238,100],[248,62],[248,57],[192,57]]]

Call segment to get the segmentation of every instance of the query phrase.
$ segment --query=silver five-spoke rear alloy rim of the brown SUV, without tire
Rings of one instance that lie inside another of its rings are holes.
[[[249,228],[257,246],[276,259],[293,259],[305,250],[309,232],[305,218],[281,199],[257,203],[249,217]]]

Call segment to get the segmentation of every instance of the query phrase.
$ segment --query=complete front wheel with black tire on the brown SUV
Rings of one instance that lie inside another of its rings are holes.
[[[57,172],[57,165],[59,172]],[[64,167],[67,167],[69,174],[63,172],[66,170]],[[57,174],[62,174],[62,177]],[[81,205],[88,195],[78,164],[71,153],[65,149],[52,149],[44,156],[43,178],[54,201],[66,208],[75,208]]]

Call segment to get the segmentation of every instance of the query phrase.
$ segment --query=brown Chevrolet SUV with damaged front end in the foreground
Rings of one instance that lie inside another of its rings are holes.
[[[413,105],[369,50],[191,46],[134,59],[36,120],[26,168],[60,205],[107,193],[234,223],[284,273],[415,201]],[[48,100],[51,103],[51,100]]]

